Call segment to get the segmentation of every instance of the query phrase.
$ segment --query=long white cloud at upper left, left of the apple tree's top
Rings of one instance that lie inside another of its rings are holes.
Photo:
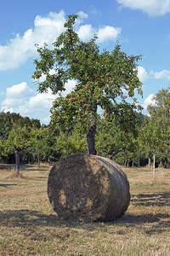
[[[37,15],[34,29],[28,29],[23,36],[16,34],[7,45],[0,45],[0,70],[13,69],[37,54],[35,44],[52,44],[64,31],[65,12],[49,13],[47,17]]]

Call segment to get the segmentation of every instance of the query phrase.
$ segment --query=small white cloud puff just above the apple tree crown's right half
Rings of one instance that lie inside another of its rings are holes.
[[[116,41],[119,35],[122,32],[121,27],[113,27],[113,26],[102,26],[99,28],[97,32],[98,43],[103,43],[107,40]]]

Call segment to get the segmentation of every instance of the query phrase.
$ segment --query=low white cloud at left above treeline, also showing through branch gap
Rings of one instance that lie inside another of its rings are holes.
[[[69,80],[65,84],[65,91],[63,96],[70,93],[76,85],[75,80]],[[6,90],[6,98],[2,102],[3,112],[20,113],[22,116],[29,116],[30,118],[40,119],[44,124],[50,121],[49,109],[52,107],[56,95],[48,90],[47,93],[37,93],[26,84],[14,84]]]

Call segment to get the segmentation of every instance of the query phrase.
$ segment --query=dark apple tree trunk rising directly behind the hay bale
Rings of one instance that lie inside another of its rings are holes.
[[[96,124],[94,121],[90,121],[89,130],[87,134],[87,149],[88,154],[97,154],[95,149],[95,132],[96,132]]]

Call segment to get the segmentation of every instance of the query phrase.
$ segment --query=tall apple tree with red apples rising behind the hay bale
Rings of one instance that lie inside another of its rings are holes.
[[[111,52],[101,52],[95,35],[82,42],[75,31],[76,20],[77,15],[68,15],[65,31],[56,39],[53,49],[48,49],[47,44],[37,45],[40,58],[34,61],[36,70],[32,78],[36,79],[39,92],[50,89],[58,94],[51,108],[56,125],[68,127],[79,123],[87,133],[88,154],[96,154],[94,137],[99,110],[108,121],[115,116],[122,129],[127,131],[131,126],[129,119],[136,108],[134,92],[142,95],[137,70],[141,55],[127,55],[119,44]],[[76,85],[63,96],[65,84],[71,79]],[[127,103],[128,97],[131,104]]]

